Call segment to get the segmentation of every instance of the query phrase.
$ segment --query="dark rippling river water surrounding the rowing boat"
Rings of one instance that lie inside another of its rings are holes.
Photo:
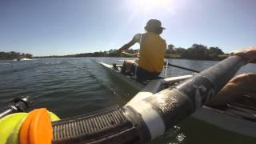
[[[95,61],[118,62],[120,58],[44,58],[32,61],[0,61],[0,108],[13,98],[30,95],[32,108],[46,107],[68,118],[108,106],[123,106],[134,92],[117,84]],[[204,70],[214,61],[170,59],[170,63]],[[189,71],[168,68],[168,76],[190,74]],[[238,73],[256,72],[248,64]],[[163,73],[164,74],[164,73]],[[221,130],[194,118],[168,131],[152,143],[255,143],[256,139]]]

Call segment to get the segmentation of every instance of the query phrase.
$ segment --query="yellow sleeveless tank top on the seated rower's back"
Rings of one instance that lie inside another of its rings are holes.
[[[166,54],[166,41],[158,34],[145,33],[140,38],[138,66],[150,72],[161,72]]]

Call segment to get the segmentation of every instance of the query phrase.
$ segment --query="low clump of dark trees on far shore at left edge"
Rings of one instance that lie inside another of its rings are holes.
[[[10,52],[0,51],[0,60],[13,60],[17,58],[33,58],[33,55],[27,54],[27,53],[19,53],[15,51],[10,51]]]

